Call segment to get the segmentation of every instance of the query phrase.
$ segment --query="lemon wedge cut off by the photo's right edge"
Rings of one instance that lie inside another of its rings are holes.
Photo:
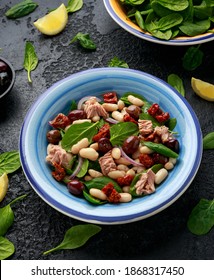
[[[194,92],[201,98],[214,101],[214,85],[204,82],[202,80],[193,78],[191,79],[191,85]]]

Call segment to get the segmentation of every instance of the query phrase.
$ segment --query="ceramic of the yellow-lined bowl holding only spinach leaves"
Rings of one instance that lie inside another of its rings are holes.
[[[180,36],[172,40],[161,40],[152,36],[149,32],[143,32],[142,29],[133,23],[126,15],[119,0],[103,0],[105,8],[112,19],[129,33],[157,44],[174,45],[174,46],[188,46],[202,44],[214,40],[214,34],[207,32],[193,37]]]

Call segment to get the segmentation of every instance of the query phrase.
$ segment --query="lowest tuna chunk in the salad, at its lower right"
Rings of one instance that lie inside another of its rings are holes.
[[[146,173],[143,173],[140,180],[137,181],[135,188],[136,194],[151,194],[155,192],[155,173],[149,169]]]

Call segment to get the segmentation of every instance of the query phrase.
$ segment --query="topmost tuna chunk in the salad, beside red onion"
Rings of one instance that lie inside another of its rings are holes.
[[[96,116],[101,116],[103,118],[108,117],[106,110],[97,102],[96,97],[89,98],[84,104],[84,111],[88,119]]]

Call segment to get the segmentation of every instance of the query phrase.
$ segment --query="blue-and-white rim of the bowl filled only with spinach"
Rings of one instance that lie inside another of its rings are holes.
[[[203,43],[207,43],[207,42],[214,40],[214,34],[208,33],[208,32],[201,34],[201,35],[194,36],[194,37],[182,36],[182,37],[178,37],[176,39],[171,39],[171,40],[158,39],[158,38],[150,35],[149,33],[140,31],[140,29],[137,30],[136,28],[129,25],[126,21],[122,20],[116,13],[116,11],[112,5],[112,1],[115,1],[115,0],[103,0],[104,6],[105,6],[107,12],[109,13],[109,15],[111,16],[111,18],[120,27],[122,27],[123,29],[125,29],[126,31],[131,33],[132,35],[137,36],[138,38],[141,38],[146,41],[153,42],[153,43],[158,43],[158,44],[162,44],[162,45],[172,45],[172,46],[198,45],[198,44],[203,44]]]

